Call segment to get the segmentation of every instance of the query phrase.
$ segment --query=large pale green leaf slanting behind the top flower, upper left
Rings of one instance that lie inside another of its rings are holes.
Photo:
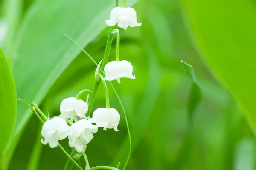
[[[128,6],[137,0],[128,1]],[[47,91],[81,50],[62,35],[70,35],[82,47],[105,27],[114,1],[38,0],[26,13],[18,31],[13,74],[17,96],[40,103]],[[15,132],[9,143],[10,160],[31,111],[19,104]]]

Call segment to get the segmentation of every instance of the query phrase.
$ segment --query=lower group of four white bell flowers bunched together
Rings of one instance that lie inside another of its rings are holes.
[[[47,120],[42,128],[42,144],[48,144],[51,148],[58,146],[58,140],[68,136],[69,146],[75,147],[77,152],[84,149],[84,144],[88,144],[93,139],[93,133],[98,131],[98,127],[103,130],[114,128],[120,121],[120,114],[114,108],[98,108],[93,112],[93,118],[86,117],[88,104],[75,97],[64,99],[60,106],[61,115]],[[71,126],[65,118],[69,118]],[[73,119],[74,118],[74,119]],[[72,123],[73,120],[75,123]],[[96,125],[93,125],[96,124]]]

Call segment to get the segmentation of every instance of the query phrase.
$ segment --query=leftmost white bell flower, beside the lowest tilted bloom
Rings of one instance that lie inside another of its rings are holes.
[[[41,140],[42,144],[49,143],[51,148],[58,146],[58,140],[65,139],[69,134],[70,126],[67,125],[65,119],[55,117],[44,122],[41,134],[44,139]]]

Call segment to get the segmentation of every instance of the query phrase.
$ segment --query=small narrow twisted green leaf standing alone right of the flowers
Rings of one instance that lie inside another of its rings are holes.
[[[189,93],[189,101],[188,101],[188,113],[189,113],[189,121],[191,121],[191,118],[193,116],[193,113],[198,106],[199,102],[202,98],[202,92],[198,85],[198,82],[195,77],[195,71],[192,65],[187,64],[186,62],[181,61],[181,64],[183,65],[186,74],[189,75],[189,77],[192,79],[192,87]]]

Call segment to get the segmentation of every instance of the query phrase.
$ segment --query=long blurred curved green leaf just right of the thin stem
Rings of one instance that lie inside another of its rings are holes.
[[[157,98],[160,94],[161,83],[161,69],[157,61],[157,57],[154,51],[148,45],[145,45],[145,49],[148,52],[148,87],[145,91],[145,95],[141,100],[140,107],[137,109],[135,119],[131,123],[131,150],[137,147],[142,138],[143,132],[148,125],[148,120],[155,106]],[[119,149],[118,154],[114,160],[114,164],[117,165],[120,161],[125,162],[129,152],[129,138],[126,136],[122,147]]]

